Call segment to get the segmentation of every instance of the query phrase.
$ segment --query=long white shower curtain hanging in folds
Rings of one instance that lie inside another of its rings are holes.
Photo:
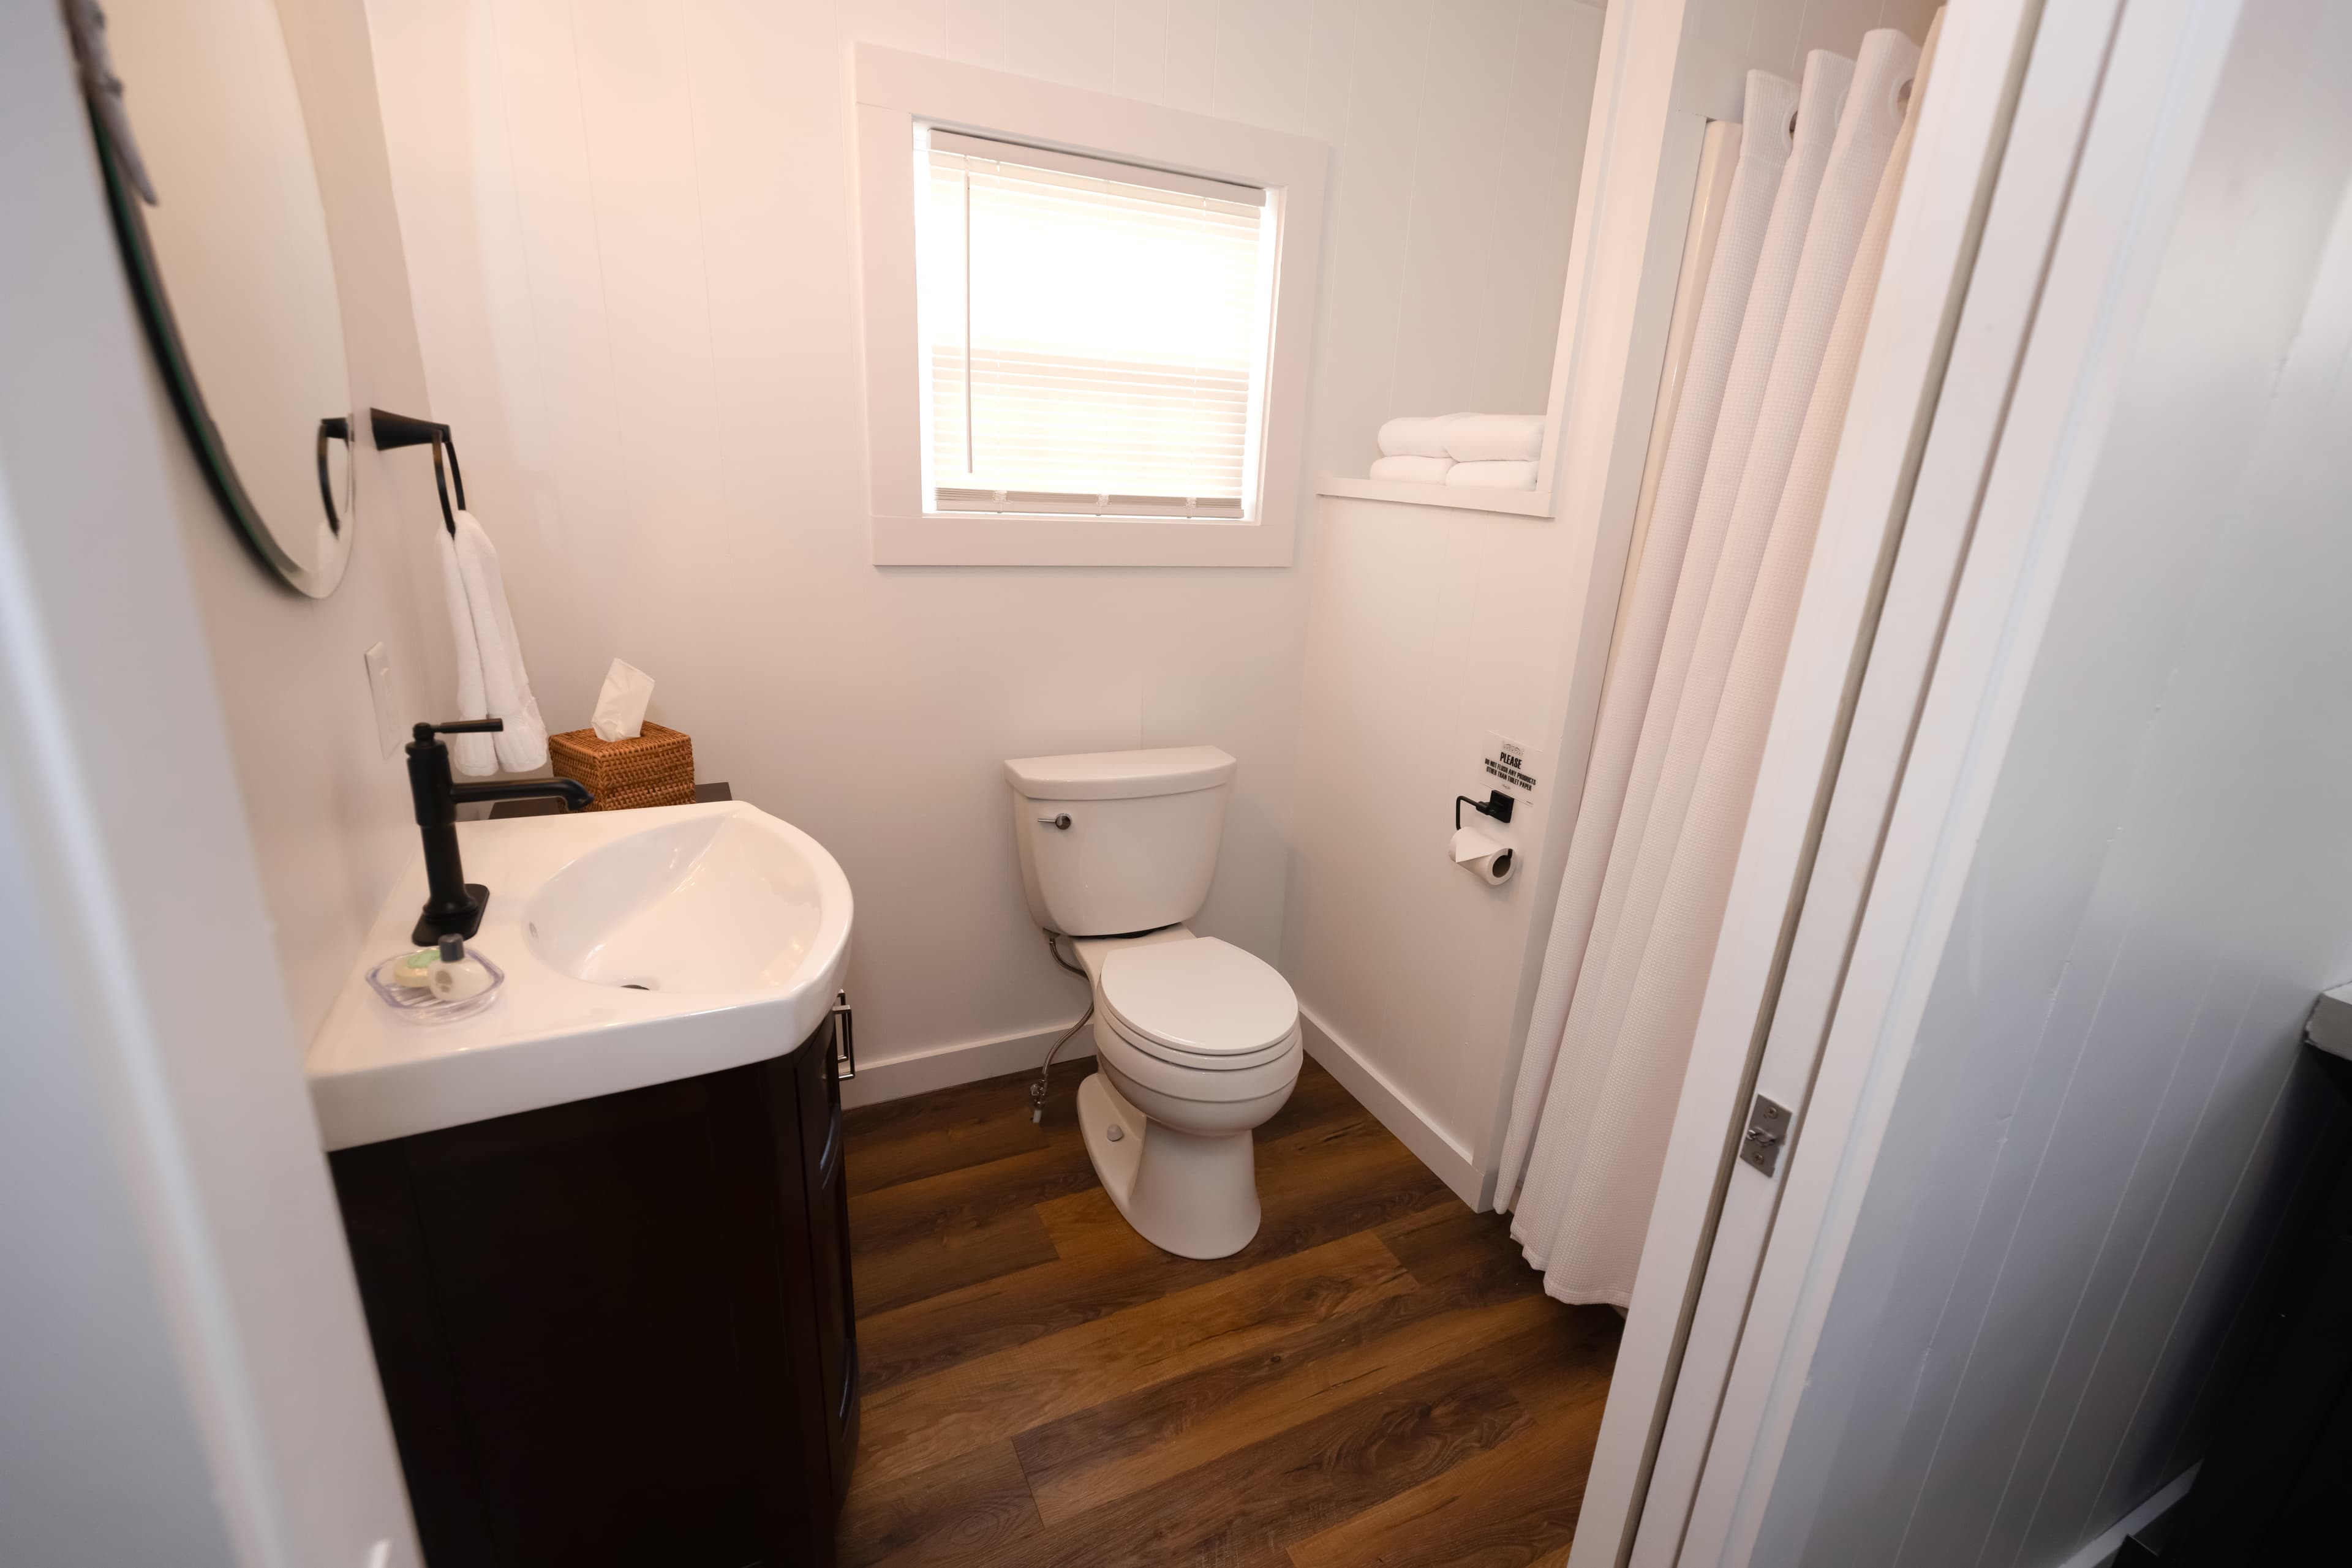
[[[1877,31],[1858,61],[1811,54],[1797,89],[1748,80],[1740,160],[1503,1143],[1496,1201],[1559,1300],[1632,1300],[1919,59],[1903,33]]]

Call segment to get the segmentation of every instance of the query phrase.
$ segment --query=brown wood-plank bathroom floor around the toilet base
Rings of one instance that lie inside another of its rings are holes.
[[[866,1418],[842,1563],[1555,1568],[1618,1319],[1536,1286],[1324,1070],[1258,1131],[1265,1222],[1171,1258],[1077,1084],[849,1112]]]

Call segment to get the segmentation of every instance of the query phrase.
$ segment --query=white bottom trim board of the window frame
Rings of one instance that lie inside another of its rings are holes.
[[[875,567],[1289,567],[1287,529],[1188,517],[873,520]]]

